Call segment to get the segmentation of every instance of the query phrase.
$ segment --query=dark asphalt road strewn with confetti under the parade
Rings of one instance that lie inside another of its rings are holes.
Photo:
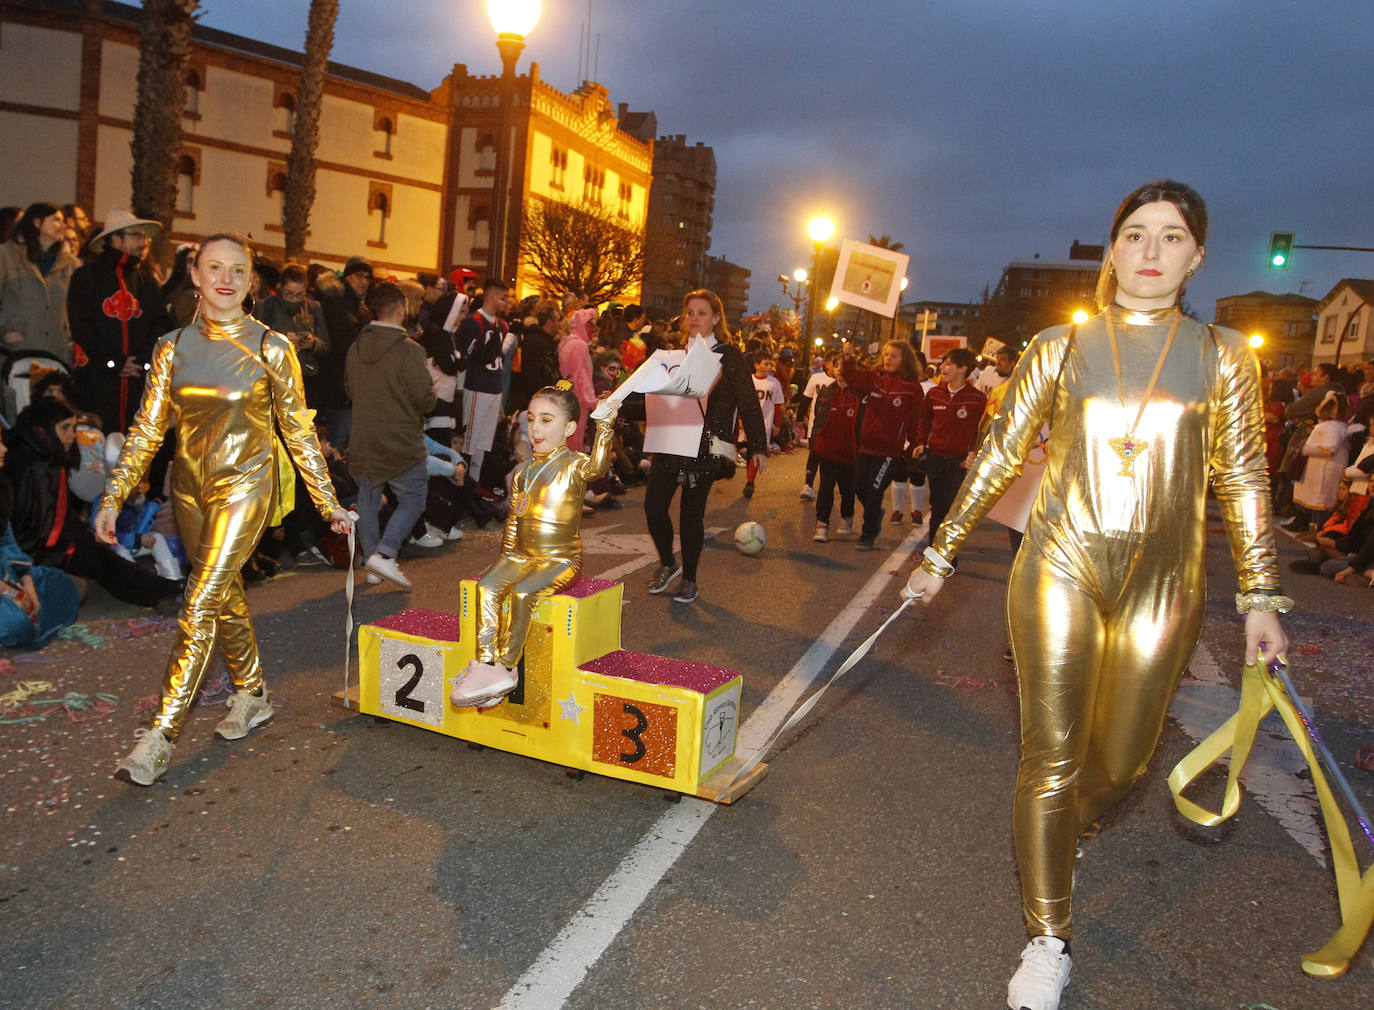
[[[742,671],[746,717],[871,594],[829,676],[890,614],[910,569],[896,550],[915,543],[910,525],[885,528],[872,554],[812,543],[802,459],[775,459],[752,502],[738,480],[717,485],[691,606],[644,591],[642,492],[584,526],[584,572],[624,577],[625,647]],[[757,558],[731,544],[746,518],[768,532]],[[1298,557],[1283,540],[1285,559]],[[415,592],[361,591],[359,620],[451,607],[497,532],[408,550]],[[201,706],[168,776],[136,789],[110,772],[146,723],[169,631],[96,599],[89,628],[104,644],[11,657],[18,679],[51,682],[45,697],[118,699],[91,721],[0,726],[0,1006],[1003,1006],[1025,941],[1009,561],[989,524],[932,610],[904,613],[731,807],[331,706],[344,590],[324,569],[249,594],[278,716],[225,743],[212,735],[223,708]],[[1234,686],[1241,624],[1219,532],[1209,572],[1200,662]],[[1298,576],[1286,587],[1300,603],[1294,676],[1374,807],[1374,775],[1352,760],[1374,741],[1374,592]],[[1143,785],[1085,846],[1063,1010],[1374,1006],[1369,947],[1338,980],[1298,969],[1338,925],[1330,871],[1308,851],[1325,849],[1300,844],[1309,786],[1279,801],[1296,804],[1287,823],[1248,796],[1226,826],[1191,826],[1164,781],[1191,746],[1171,721]],[[1204,798],[1217,800],[1216,782]],[[1358,834],[1356,849],[1367,866]]]

